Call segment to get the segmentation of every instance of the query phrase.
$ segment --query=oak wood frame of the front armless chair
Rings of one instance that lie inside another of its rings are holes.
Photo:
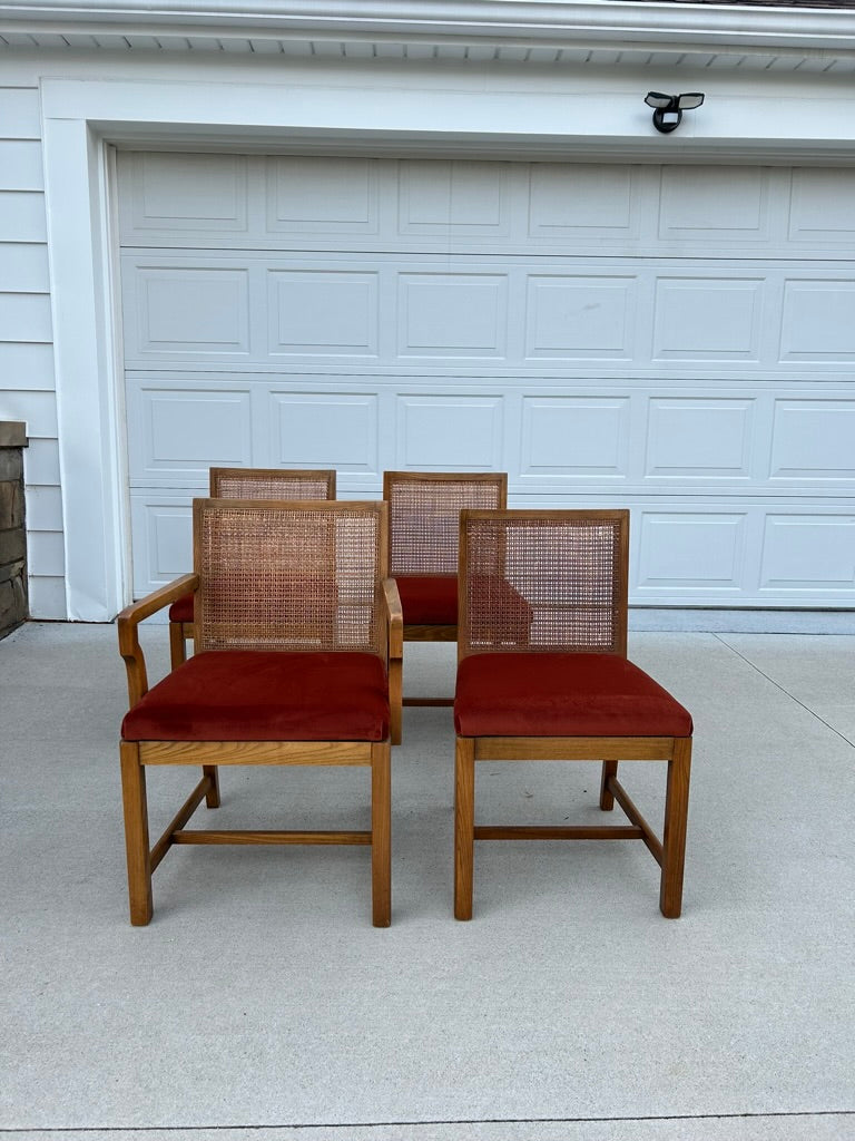
[[[458,576],[458,620],[464,637],[458,639],[458,662],[469,656],[469,605],[466,576],[469,543],[466,524],[471,518],[496,519],[497,512],[461,512],[461,545]],[[619,550],[614,565],[614,649],[626,657],[629,565],[629,512],[612,511],[505,511],[508,520],[555,518],[572,521],[576,518],[617,519]],[[502,653],[502,650],[486,650]],[[589,761],[602,762],[600,808],[611,811],[617,801],[628,825],[567,827],[475,824],[475,762],[477,761]],[[662,839],[638,811],[635,802],[618,780],[618,762],[666,761],[668,775],[665,793],[665,822]],[[475,840],[642,840],[661,868],[659,908],[666,919],[677,919],[682,911],[683,873],[685,865],[686,820],[689,811],[689,783],[691,776],[691,737],[456,737],[455,747],[455,837],[454,837],[454,914],[458,920],[472,919]]]

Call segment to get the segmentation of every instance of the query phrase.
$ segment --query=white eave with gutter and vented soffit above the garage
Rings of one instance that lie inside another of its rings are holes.
[[[0,0],[0,48],[855,70],[855,9],[624,0]]]

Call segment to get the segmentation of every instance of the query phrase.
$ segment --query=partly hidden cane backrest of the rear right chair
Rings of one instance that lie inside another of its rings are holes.
[[[389,573],[456,575],[461,510],[504,507],[505,486],[505,476],[499,474],[479,479],[407,474],[388,479]]]

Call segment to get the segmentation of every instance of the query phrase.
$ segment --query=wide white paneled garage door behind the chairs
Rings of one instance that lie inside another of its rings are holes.
[[[632,600],[855,601],[855,172],[120,155],[135,592],[210,464],[632,509]]]

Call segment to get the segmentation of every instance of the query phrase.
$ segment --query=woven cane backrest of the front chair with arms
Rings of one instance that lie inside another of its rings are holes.
[[[385,505],[194,501],[196,652],[385,654]]]

